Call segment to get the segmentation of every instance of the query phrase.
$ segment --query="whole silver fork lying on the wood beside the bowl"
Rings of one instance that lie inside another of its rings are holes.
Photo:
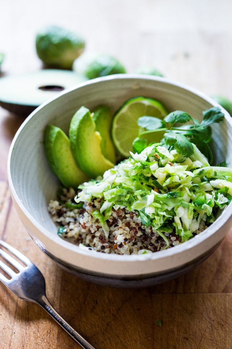
[[[21,252],[2,240],[0,240],[0,246],[6,248],[6,250],[15,255],[15,257],[25,264],[25,267],[22,266],[6,251],[0,248],[0,255],[18,270],[18,273],[15,273],[10,267],[8,267],[8,265],[0,260],[0,268],[10,277],[10,279],[7,279],[6,276],[0,273],[0,281],[19,298],[39,304],[56,322],[58,322],[59,325],[61,325],[61,327],[65,329],[67,333],[70,334],[76,342],[80,344],[82,348],[95,349],[71,325],[69,325],[50,304],[46,297],[45,279],[40,270],[30,261],[30,259],[26,258]]]

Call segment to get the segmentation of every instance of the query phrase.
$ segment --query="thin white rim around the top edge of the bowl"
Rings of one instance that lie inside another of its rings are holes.
[[[160,77],[160,76],[151,76],[151,75],[142,75],[142,74],[115,74],[115,75],[108,75],[108,76],[104,76],[104,77],[99,77],[96,79],[92,79],[92,80],[87,80],[83,83],[78,84],[77,86],[74,86],[70,89],[67,89],[65,91],[62,91],[59,96],[55,97],[55,98],[51,98],[49,99],[47,102],[42,103],[38,108],[36,108],[22,123],[22,125],[18,128],[13,141],[11,142],[10,145],[10,149],[9,149],[9,154],[8,154],[8,161],[7,161],[7,173],[8,173],[8,182],[9,182],[9,187],[10,187],[10,191],[11,191],[11,195],[13,196],[15,202],[17,203],[17,205],[19,206],[19,208],[23,211],[24,215],[27,217],[27,219],[29,221],[31,221],[31,223],[34,225],[34,227],[36,229],[38,229],[43,235],[45,235],[47,238],[49,238],[52,243],[57,244],[59,247],[65,249],[66,251],[72,251],[72,252],[76,252],[78,254],[82,254],[85,255],[86,257],[94,257],[96,259],[102,259],[102,260],[112,260],[112,261],[126,261],[126,262],[134,262],[134,261],[142,261],[142,260],[157,260],[157,259],[163,259],[163,258],[167,258],[169,256],[173,256],[176,254],[181,253],[182,251],[186,251],[186,250],[190,250],[191,248],[197,246],[198,244],[200,244],[201,242],[207,240],[208,238],[210,238],[211,235],[214,235],[214,233],[220,228],[222,227],[225,222],[228,219],[228,215],[226,215],[227,212],[229,212],[229,210],[232,212],[232,202],[225,208],[225,210],[222,212],[222,214],[216,219],[216,221],[214,223],[212,223],[210,225],[210,227],[208,227],[205,231],[203,231],[202,233],[200,233],[199,235],[196,235],[194,238],[186,241],[183,244],[179,244],[177,246],[175,246],[174,248],[167,248],[166,250],[162,250],[162,251],[157,251],[155,253],[148,253],[148,254],[133,254],[133,255],[120,255],[120,254],[107,254],[107,253],[95,253],[95,251],[91,250],[84,250],[80,247],[78,247],[77,245],[74,245],[64,239],[62,239],[59,236],[54,236],[53,233],[49,232],[47,229],[43,228],[38,222],[37,220],[34,219],[34,217],[29,213],[29,211],[27,211],[24,206],[22,205],[22,202],[19,198],[19,196],[17,195],[15,189],[14,189],[14,185],[13,185],[13,180],[11,178],[11,172],[10,172],[10,159],[11,159],[11,154],[13,151],[13,148],[15,146],[15,142],[19,136],[19,134],[21,133],[21,130],[24,128],[24,126],[27,124],[27,122],[30,122],[30,120],[35,116],[35,114],[37,114],[37,112],[42,109],[43,107],[45,107],[47,104],[49,104],[50,102],[60,98],[62,95],[65,95],[67,93],[69,93],[70,91],[76,90],[76,89],[80,89],[83,86],[86,86],[88,84],[96,84],[98,82],[103,82],[103,81],[108,81],[108,80],[121,80],[121,79],[134,79],[134,80],[153,80],[153,81],[162,81],[162,82],[166,82],[167,84],[171,84],[173,86],[176,86],[178,88],[182,88],[185,89],[195,95],[197,95],[198,97],[203,98],[205,101],[207,101],[208,103],[212,104],[213,106],[219,106],[221,107],[221,109],[223,110],[224,114],[225,114],[225,119],[227,122],[229,122],[229,124],[231,125],[232,128],[232,118],[230,116],[230,114],[222,108],[221,105],[219,105],[217,102],[215,102],[211,97],[205,95],[203,92],[194,89],[192,87],[189,87],[188,85],[184,84],[184,83],[180,83],[171,79],[168,79],[166,77]],[[231,213],[232,215],[232,213]],[[212,231],[212,228],[213,231]],[[36,236],[35,236],[36,237]]]

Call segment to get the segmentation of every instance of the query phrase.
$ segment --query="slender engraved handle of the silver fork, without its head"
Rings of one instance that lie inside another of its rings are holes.
[[[85,338],[83,338],[69,323],[62,318],[59,313],[54,309],[54,307],[50,304],[47,297],[44,295],[37,303],[44,309],[46,312],[56,321],[58,324],[65,329],[67,333],[70,334],[73,339],[80,344],[80,346],[84,349],[96,349],[93,347]]]

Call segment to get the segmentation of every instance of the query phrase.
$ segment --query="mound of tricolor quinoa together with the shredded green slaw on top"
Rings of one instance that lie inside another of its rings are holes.
[[[48,210],[58,233],[79,247],[142,254],[201,233],[232,200],[232,169],[210,166],[193,144],[189,158],[159,143],[73,189]]]

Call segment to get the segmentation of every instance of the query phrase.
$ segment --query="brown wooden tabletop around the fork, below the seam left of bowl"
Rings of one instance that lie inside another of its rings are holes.
[[[33,243],[0,182],[0,236],[45,276],[51,304],[97,349],[231,348],[232,232],[192,272],[144,289],[116,289],[78,280]],[[161,326],[155,324],[160,319]],[[0,284],[1,348],[78,348],[38,305]]]

